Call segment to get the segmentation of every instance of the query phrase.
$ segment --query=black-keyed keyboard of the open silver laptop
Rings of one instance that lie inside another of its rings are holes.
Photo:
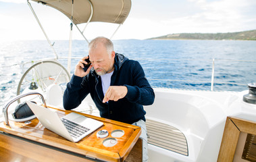
[[[61,121],[66,126],[70,135],[74,138],[79,138],[80,136],[82,136],[83,134],[90,130],[89,128],[76,124],[68,119],[61,118]]]

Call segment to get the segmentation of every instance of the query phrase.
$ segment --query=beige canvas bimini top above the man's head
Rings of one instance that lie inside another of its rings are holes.
[[[130,8],[130,0],[32,0],[53,7],[68,16],[74,24],[109,22],[123,24]],[[72,3],[73,14],[72,14]]]

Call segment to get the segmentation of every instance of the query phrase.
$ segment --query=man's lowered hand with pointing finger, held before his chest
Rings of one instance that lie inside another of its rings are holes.
[[[126,86],[109,86],[102,102],[105,103],[109,100],[118,101],[119,99],[124,98],[127,92],[128,89]]]

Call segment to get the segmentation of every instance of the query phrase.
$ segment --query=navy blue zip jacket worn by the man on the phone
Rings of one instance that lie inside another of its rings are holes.
[[[126,86],[128,89],[126,97],[118,101],[103,103],[101,77],[92,68],[84,78],[72,76],[63,95],[63,107],[65,109],[78,107],[90,93],[101,117],[128,124],[140,119],[145,121],[146,111],[143,105],[152,105],[155,93],[145,78],[143,68],[138,61],[128,59],[118,53],[116,53],[114,68],[110,86]]]

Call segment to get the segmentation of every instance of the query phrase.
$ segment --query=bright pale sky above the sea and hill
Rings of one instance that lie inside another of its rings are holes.
[[[27,0],[0,0],[0,41],[45,40]],[[59,11],[34,3],[50,40],[70,38],[70,20]],[[116,24],[91,23],[88,39],[110,37]],[[80,28],[84,28],[80,26]],[[113,39],[146,39],[176,33],[240,32],[256,29],[255,0],[132,0],[126,22]],[[76,28],[73,39],[83,39]]]

